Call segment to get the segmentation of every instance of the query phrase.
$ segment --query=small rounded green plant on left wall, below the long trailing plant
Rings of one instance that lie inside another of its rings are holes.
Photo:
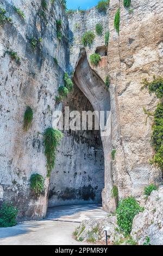
[[[44,190],[44,178],[40,174],[30,176],[30,189],[38,196]]]

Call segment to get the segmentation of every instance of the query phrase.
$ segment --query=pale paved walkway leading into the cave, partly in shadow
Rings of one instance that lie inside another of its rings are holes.
[[[43,221],[24,222],[0,228],[0,245],[86,245],[73,239],[74,229],[84,219],[102,218],[99,205],[58,206],[48,209]]]

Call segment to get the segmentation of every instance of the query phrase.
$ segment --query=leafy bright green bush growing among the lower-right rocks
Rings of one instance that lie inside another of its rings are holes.
[[[133,197],[122,199],[118,203],[116,210],[117,224],[124,232],[124,235],[128,236],[130,234],[134,217],[143,210]]]

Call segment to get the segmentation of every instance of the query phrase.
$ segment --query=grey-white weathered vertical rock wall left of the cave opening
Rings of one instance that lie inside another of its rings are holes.
[[[55,96],[66,69],[68,23],[59,1],[48,2],[45,17],[40,16],[41,1],[14,1],[26,15],[23,20],[12,7],[1,5],[12,22],[0,30],[0,200],[16,204],[19,219],[46,215],[48,179],[42,133],[52,126]],[[62,20],[62,40],[57,39],[56,20]],[[47,21],[46,21],[47,20]],[[30,38],[42,38],[32,49]],[[17,52],[16,64],[5,51]],[[58,59],[58,65],[54,62]],[[33,109],[32,126],[23,130],[27,106]],[[45,178],[45,194],[35,198],[29,178],[38,173]]]

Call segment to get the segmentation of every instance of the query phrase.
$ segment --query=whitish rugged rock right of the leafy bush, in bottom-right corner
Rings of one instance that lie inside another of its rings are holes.
[[[153,191],[145,204],[145,211],[134,218],[131,235],[143,245],[149,237],[152,245],[163,245],[163,186]]]

